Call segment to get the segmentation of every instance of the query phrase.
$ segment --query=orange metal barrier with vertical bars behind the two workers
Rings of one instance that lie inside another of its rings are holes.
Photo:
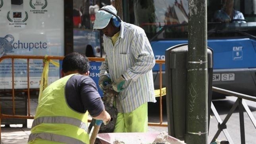
[[[0,63],[3,60],[6,59],[11,59],[12,61],[12,89],[11,90],[3,90],[0,91],[0,93],[2,94],[6,94],[6,93],[11,93],[12,95],[12,115],[7,115],[7,114],[3,114],[0,113],[0,124],[1,124],[1,119],[8,119],[8,118],[14,118],[14,119],[34,119],[34,116],[31,116],[30,114],[30,92],[31,91],[39,91],[39,89],[30,89],[30,73],[29,73],[29,66],[30,66],[30,61],[31,60],[42,60],[42,63],[44,63],[44,60],[63,60],[63,56],[21,56],[21,55],[6,55],[0,58]],[[25,59],[27,60],[27,89],[15,89],[14,88],[14,74],[15,74],[15,68],[14,68],[14,60],[16,59]],[[105,59],[104,58],[88,58],[90,61],[97,61],[97,62],[102,62]],[[164,60],[156,60],[156,64],[159,64],[159,71],[160,71],[160,80],[159,80],[159,84],[160,84],[160,102],[159,102],[159,107],[160,107],[160,115],[159,115],[159,119],[160,122],[159,123],[148,123],[148,125],[151,126],[165,126],[167,127],[167,124],[163,124],[163,109],[162,109],[162,65],[165,63]],[[15,92],[26,92],[27,93],[27,102],[28,102],[28,112],[26,116],[23,115],[16,115],[15,114]],[[0,105],[0,112],[1,112],[1,105]],[[90,122],[90,120],[88,121]],[[0,127],[0,140],[1,140],[1,127]]]

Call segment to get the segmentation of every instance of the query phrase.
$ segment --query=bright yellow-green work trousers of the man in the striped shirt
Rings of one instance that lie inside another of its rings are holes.
[[[114,132],[148,132],[148,103],[130,113],[118,113]]]

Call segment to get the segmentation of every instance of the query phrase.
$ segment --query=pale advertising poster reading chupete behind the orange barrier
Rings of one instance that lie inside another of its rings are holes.
[[[64,56],[64,0],[0,0],[0,57]],[[29,61],[30,88],[39,88],[42,60]],[[59,79],[50,64],[49,84]],[[14,88],[27,88],[27,59],[14,60]],[[12,60],[0,62],[0,89],[12,88]]]

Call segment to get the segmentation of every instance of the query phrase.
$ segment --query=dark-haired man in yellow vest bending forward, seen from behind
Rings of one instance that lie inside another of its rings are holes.
[[[63,59],[59,80],[43,91],[32,124],[29,144],[89,144],[88,112],[108,122],[97,86],[89,76],[89,60],[73,52]]]

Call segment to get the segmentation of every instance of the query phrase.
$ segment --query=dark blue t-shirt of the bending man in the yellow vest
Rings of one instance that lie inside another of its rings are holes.
[[[69,107],[77,112],[85,113],[88,110],[95,117],[104,110],[97,86],[89,76],[70,77],[65,86],[65,96]]]

